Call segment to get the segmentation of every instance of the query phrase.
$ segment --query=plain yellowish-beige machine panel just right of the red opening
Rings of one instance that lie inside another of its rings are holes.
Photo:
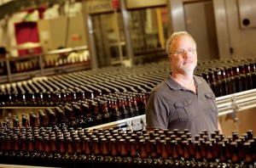
[[[74,48],[86,45],[84,18],[82,15],[60,17],[53,20],[38,20],[38,31],[43,51],[59,47]]]

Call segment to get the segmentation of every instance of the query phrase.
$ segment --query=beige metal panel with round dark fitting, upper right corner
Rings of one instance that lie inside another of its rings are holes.
[[[220,58],[255,56],[255,2],[214,1]],[[254,9],[253,9],[254,8]],[[230,57],[228,56],[230,53]]]

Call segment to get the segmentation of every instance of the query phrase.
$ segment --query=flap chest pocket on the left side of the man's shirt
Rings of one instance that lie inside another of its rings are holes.
[[[194,120],[197,116],[190,98],[179,100],[174,103],[174,106],[177,110],[177,117],[179,121],[188,122]]]

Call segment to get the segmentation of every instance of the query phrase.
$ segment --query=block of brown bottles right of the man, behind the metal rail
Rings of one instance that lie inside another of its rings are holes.
[[[216,97],[256,88],[255,60],[254,62],[247,59],[236,62],[218,61],[215,66],[202,64],[197,74],[209,83]]]

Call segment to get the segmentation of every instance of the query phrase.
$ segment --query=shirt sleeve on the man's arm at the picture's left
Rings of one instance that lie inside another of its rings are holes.
[[[147,128],[168,128],[168,106],[159,92],[152,91],[146,104]]]

